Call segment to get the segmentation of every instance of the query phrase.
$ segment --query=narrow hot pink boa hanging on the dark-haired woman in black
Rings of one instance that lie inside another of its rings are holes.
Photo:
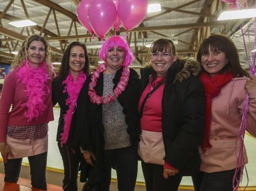
[[[68,98],[66,99],[66,105],[68,105],[68,111],[63,115],[64,118],[64,127],[63,133],[61,133],[61,146],[68,141],[68,134],[70,132],[70,124],[72,116],[74,113],[74,107],[76,105],[76,99],[79,96],[79,92],[83,86],[83,83],[86,80],[85,73],[81,73],[76,81],[74,81],[73,76],[69,73],[66,80],[62,84],[66,84],[63,93],[68,93]]]

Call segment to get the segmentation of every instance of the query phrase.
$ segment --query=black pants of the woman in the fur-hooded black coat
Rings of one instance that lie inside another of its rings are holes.
[[[150,164],[141,161],[141,167],[145,179],[147,191],[177,191],[182,181],[182,175],[176,174],[168,177],[163,176],[164,168],[162,165]]]

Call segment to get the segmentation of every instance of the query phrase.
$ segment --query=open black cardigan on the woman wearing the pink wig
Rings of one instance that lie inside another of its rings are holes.
[[[117,86],[119,78],[122,75],[122,68],[117,71],[113,79],[114,87]],[[85,164],[81,172],[81,181],[87,181],[87,190],[89,186],[100,185],[102,180],[102,165],[104,160],[104,126],[102,123],[102,104],[97,105],[89,101],[88,85],[91,82],[91,75],[87,77],[84,86],[81,89],[79,98],[77,99],[76,111],[73,114],[72,125],[75,127],[74,140],[76,145],[80,145],[83,150],[94,152],[97,160],[94,167]],[[100,73],[97,85],[95,87],[98,95],[103,92],[103,74]],[[117,98],[120,105],[123,107],[126,124],[128,124],[128,134],[132,145],[137,145],[139,142],[139,74],[130,69],[130,77],[128,85],[122,94]],[[95,189],[95,188],[94,188]],[[98,188],[100,189],[100,188]],[[97,189],[96,189],[97,190]]]

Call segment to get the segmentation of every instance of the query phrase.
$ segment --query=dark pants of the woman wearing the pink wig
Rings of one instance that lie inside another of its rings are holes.
[[[112,168],[117,172],[118,190],[134,191],[138,171],[137,146],[106,150],[104,152],[104,183],[102,191],[109,191]]]

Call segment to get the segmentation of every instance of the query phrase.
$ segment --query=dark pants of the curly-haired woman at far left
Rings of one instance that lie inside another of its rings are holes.
[[[31,185],[33,188],[47,190],[46,185],[46,162],[47,152],[35,156],[29,156],[29,166],[31,175]],[[21,162],[23,158],[8,159],[4,163],[5,179],[4,181],[17,183],[20,176]]]

